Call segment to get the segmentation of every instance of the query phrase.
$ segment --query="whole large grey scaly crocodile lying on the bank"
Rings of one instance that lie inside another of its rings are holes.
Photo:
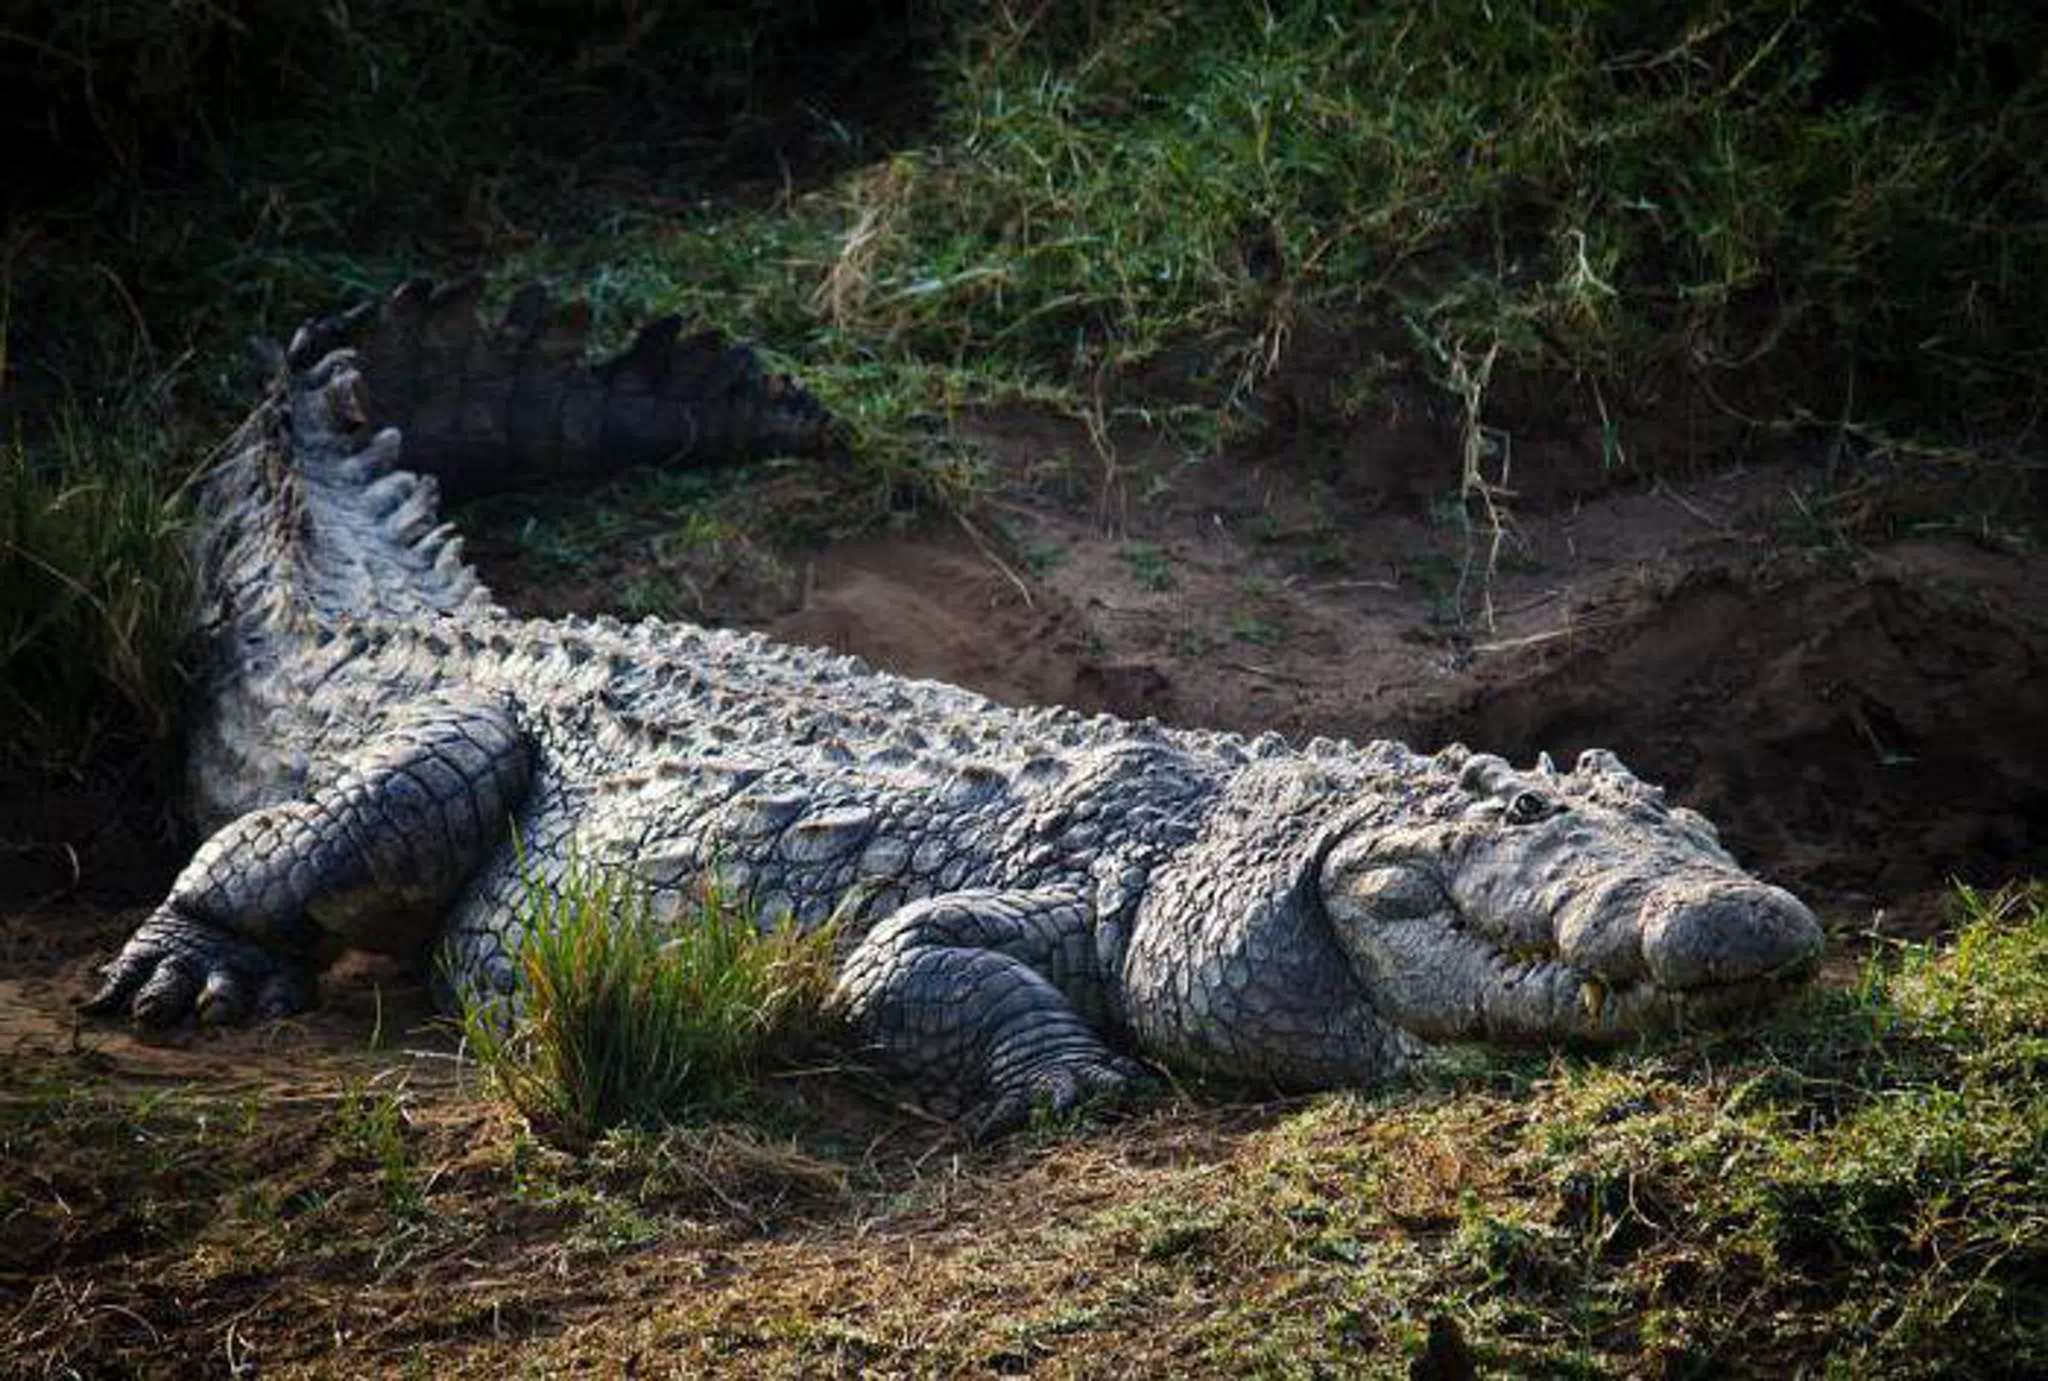
[[[205,834],[84,1006],[295,1012],[342,949],[520,994],[528,887],[629,869],[836,926],[848,1039],[975,1135],[1155,1068],[1370,1084],[1446,1043],[1614,1043],[1802,981],[1823,938],[1612,752],[1292,744],[1006,707],[760,633],[520,619],[440,494],[831,457],[811,395],[674,320],[604,365],[477,287],[303,326],[199,504]],[[403,461],[403,463],[401,463]]]

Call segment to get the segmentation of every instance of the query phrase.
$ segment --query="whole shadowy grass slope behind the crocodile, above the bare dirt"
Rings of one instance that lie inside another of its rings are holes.
[[[0,31],[0,119],[55,168],[0,246],[10,465],[45,510],[168,492],[258,387],[248,334],[475,266],[764,342],[942,502],[975,473],[932,418],[1020,395],[1200,449],[1276,393],[1346,426],[1419,381],[1468,482],[1532,426],[1655,471],[1677,412],[2011,457],[2048,379],[2044,39],[1931,0],[66,6]],[[1337,346],[1292,377],[1303,340]],[[170,469],[82,473],[51,418],[190,426]]]

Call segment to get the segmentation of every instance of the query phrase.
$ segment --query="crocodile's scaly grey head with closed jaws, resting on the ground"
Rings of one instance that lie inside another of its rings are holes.
[[[1616,1041],[1808,977],[1821,926],[1606,750],[1520,772],[1448,748],[1335,836],[1317,891],[1380,1016],[1425,1041]]]

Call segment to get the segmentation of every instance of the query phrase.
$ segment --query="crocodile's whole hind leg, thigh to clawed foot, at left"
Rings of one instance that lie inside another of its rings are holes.
[[[504,842],[526,777],[526,744],[496,701],[412,711],[311,797],[209,838],[82,1008],[150,1027],[287,1016],[342,949],[420,953]]]

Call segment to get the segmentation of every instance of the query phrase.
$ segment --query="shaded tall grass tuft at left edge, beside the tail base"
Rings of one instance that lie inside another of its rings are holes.
[[[72,772],[109,740],[168,760],[193,600],[170,449],[80,412],[0,449],[0,764]]]

